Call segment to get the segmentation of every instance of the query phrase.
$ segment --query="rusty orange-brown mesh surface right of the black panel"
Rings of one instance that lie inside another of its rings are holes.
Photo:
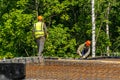
[[[120,80],[120,59],[51,60],[26,64],[30,80]]]

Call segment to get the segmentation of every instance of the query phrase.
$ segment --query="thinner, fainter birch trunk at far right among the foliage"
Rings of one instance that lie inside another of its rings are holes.
[[[107,35],[107,38],[108,38],[108,39],[109,39],[109,25],[108,25],[109,12],[110,12],[110,3],[108,4],[107,14],[106,14],[106,18],[107,18],[107,22],[106,22],[106,35]],[[110,48],[109,48],[109,46],[107,46],[107,56],[110,56],[109,50],[110,50]]]

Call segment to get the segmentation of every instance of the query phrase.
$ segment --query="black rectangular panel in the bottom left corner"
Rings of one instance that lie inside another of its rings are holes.
[[[25,64],[0,63],[0,80],[21,80],[25,78]]]

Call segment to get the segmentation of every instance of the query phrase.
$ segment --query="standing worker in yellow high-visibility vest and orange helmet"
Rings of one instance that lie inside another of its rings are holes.
[[[42,52],[44,49],[45,39],[47,38],[48,35],[47,27],[46,24],[43,22],[42,16],[38,16],[38,22],[34,24],[33,32],[38,47],[38,57],[42,62],[43,61]]]

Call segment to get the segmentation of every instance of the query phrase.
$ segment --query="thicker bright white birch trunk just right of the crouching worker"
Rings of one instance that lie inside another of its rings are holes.
[[[95,41],[95,1],[92,0],[91,1],[92,3],[92,57],[95,57],[95,44],[96,44],[96,41]]]

